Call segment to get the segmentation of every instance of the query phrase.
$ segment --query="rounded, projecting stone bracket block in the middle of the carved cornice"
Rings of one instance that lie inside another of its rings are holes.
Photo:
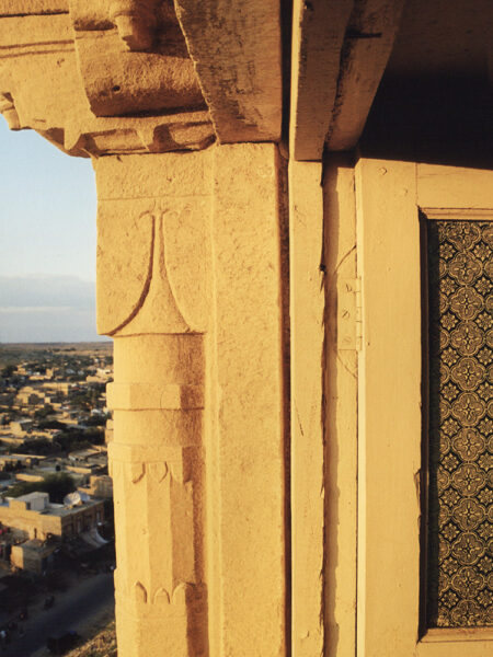
[[[71,0],[70,15],[96,116],[206,108],[171,0]]]

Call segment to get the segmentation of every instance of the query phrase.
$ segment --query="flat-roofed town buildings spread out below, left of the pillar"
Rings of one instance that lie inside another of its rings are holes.
[[[0,563],[43,574],[66,544],[78,554],[107,543],[99,530],[113,521],[112,356],[47,348],[1,373]],[[50,498],[60,482],[72,493]]]

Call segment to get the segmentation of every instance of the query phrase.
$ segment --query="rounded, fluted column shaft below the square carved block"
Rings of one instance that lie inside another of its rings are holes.
[[[152,345],[158,358],[173,342],[171,335],[148,337],[154,339],[147,341],[147,350]],[[116,338],[115,359],[138,349],[138,339]],[[135,378],[141,377],[136,372]],[[139,390],[139,384],[133,387]],[[147,390],[142,384],[140,393]],[[203,410],[169,403],[165,391],[156,407],[147,403],[145,410],[139,403],[122,403],[114,390],[110,396],[117,436],[108,451],[119,653],[151,657],[169,646],[170,655],[206,656]],[[118,434],[122,424],[126,428]]]

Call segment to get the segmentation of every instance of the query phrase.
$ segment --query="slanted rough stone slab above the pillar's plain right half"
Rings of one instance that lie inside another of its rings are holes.
[[[175,7],[218,140],[278,141],[279,0],[175,0]]]

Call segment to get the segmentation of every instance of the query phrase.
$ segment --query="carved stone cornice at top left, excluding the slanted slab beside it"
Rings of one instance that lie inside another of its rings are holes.
[[[39,0],[13,13],[0,0],[0,111],[12,129],[33,128],[79,157],[196,150],[214,140],[170,2],[62,5]],[[142,51],[145,25],[152,49]]]

